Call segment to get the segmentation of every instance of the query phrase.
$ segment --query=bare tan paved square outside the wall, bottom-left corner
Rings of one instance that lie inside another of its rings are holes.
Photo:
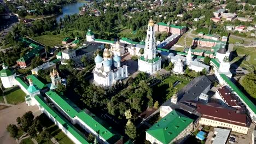
[[[21,103],[19,105],[11,106],[7,109],[0,110],[0,144],[12,144],[16,143],[13,138],[10,137],[6,131],[8,124],[17,124],[16,118],[22,117],[27,111],[32,111],[34,116],[40,115],[40,111],[37,106],[27,106],[27,104]]]

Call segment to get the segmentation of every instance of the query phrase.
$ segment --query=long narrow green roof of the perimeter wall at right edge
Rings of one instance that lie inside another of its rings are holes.
[[[243,94],[243,92],[241,92],[241,90],[236,87],[235,83],[233,83],[229,78],[228,76],[224,75],[224,74],[220,74],[220,76],[223,78],[223,80],[228,83],[228,85],[232,88],[232,90],[234,92],[237,93],[237,95],[239,95],[239,97],[245,101],[246,105],[249,106],[249,108],[254,112],[256,113],[256,106],[252,103],[252,101],[245,95]]]

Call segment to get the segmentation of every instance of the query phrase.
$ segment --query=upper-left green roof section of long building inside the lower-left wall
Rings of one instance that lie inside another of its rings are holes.
[[[67,113],[67,115],[71,118],[74,118],[77,115],[77,111],[67,103],[66,100],[62,99],[60,95],[53,91],[49,91],[45,93],[49,98],[51,98],[55,103]]]

